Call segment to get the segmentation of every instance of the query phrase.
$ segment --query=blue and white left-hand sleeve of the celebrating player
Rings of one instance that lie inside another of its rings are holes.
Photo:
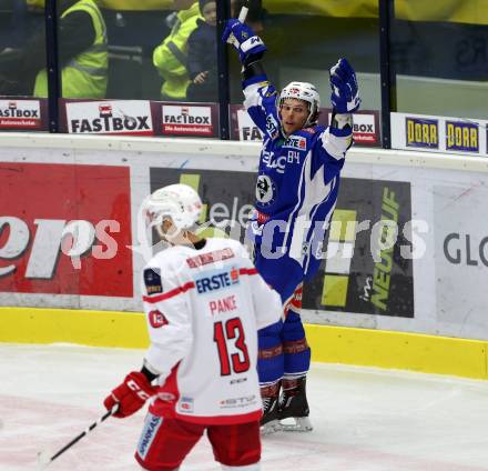
[[[260,130],[271,139],[279,133],[277,91],[268,81],[252,83],[244,88],[244,107]]]

